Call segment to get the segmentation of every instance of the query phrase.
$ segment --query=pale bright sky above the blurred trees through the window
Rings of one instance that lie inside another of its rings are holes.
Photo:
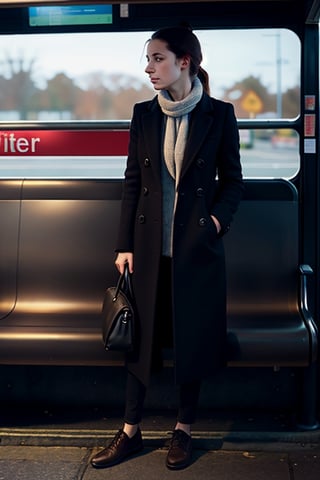
[[[236,81],[253,75],[275,93],[298,84],[300,42],[289,30],[195,31],[202,45],[202,66],[219,96]],[[151,32],[0,36],[0,74],[8,53],[36,59],[39,86],[58,72],[79,79],[89,72],[127,73],[148,83],[144,45]],[[9,41],[8,41],[9,37]],[[8,48],[10,50],[8,51]],[[278,75],[280,74],[280,75]]]

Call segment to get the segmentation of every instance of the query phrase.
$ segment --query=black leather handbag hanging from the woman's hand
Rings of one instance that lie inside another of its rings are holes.
[[[133,350],[135,311],[128,264],[116,287],[106,290],[102,307],[102,340],[106,350]]]

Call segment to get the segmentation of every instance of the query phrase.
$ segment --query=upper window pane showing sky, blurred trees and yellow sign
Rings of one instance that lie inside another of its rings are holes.
[[[300,44],[293,32],[196,33],[212,94],[229,99],[239,118],[299,114]],[[0,36],[0,119],[129,119],[132,104],[153,95],[144,73],[149,37],[150,32]]]

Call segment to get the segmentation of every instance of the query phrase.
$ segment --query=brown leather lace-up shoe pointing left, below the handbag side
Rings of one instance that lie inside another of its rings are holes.
[[[91,459],[91,465],[94,468],[112,467],[121,463],[122,460],[130,455],[139,452],[142,448],[140,429],[132,438],[129,438],[123,430],[119,430],[110,445]]]

